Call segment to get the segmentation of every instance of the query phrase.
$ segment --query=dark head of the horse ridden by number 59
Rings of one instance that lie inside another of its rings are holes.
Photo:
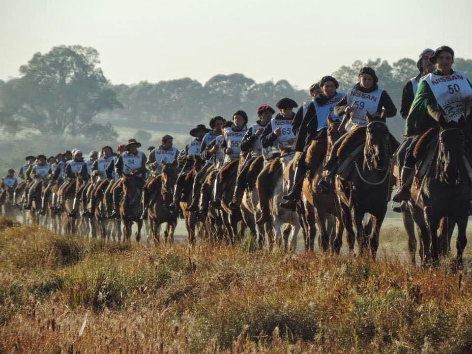
[[[373,117],[365,112],[367,129],[365,133],[364,163],[369,170],[384,170],[388,167],[387,145],[388,127],[385,123],[385,111],[380,117]]]

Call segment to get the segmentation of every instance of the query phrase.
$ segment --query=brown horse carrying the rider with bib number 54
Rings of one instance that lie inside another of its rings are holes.
[[[119,203],[119,215],[124,225],[123,240],[131,241],[131,227],[133,222],[135,222],[138,226],[135,237],[136,242],[139,243],[141,239],[143,220],[141,220],[141,190],[138,188],[138,181],[136,178],[139,177],[126,175],[123,175],[122,177],[123,193]]]

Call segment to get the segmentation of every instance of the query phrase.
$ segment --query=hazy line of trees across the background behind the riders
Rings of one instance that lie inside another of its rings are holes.
[[[274,105],[282,97],[299,103],[309,99],[308,88],[297,89],[287,80],[256,83],[238,73],[215,75],[204,85],[190,78],[112,85],[99,63],[98,52],[90,47],[58,46],[46,54],[34,54],[20,66],[20,77],[0,80],[3,133],[33,129],[51,136],[115,140],[115,124],[140,127],[158,123],[185,130],[216,115],[231,118],[237,109],[255,116],[260,104]],[[379,87],[399,109],[403,86],[418,73],[415,60],[404,58],[392,64],[382,59],[356,60],[341,66],[331,73],[339,81],[339,91],[355,85],[362,66],[376,70]],[[471,59],[456,58],[454,68],[472,77]],[[313,78],[313,82],[319,79]],[[394,133],[401,134],[400,118],[392,121]]]

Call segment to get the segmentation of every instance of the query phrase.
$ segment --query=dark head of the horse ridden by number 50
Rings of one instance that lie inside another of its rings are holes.
[[[460,162],[464,154],[465,136],[460,128],[444,129],[439,134],[440,179],[445,183],[459,183]]]

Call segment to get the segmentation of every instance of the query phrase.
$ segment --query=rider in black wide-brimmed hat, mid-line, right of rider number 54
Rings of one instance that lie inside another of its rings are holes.
[[[203,138],[205,134],[210,131],[205,124],[198,124],[195,128],[190,130],[190,135],[193,139],[185,146],[185,148],[180,151],[177,156],[177,161],[180,166],[182,166],[182,171],[176,180],[176,187],[174,189],[174,201],[169,205],[170,210],[177,211],[177,205],[180,199],[182,198],[183,188],[185,186],[185,177],[192,169],[189,161],[192,161],[193,158],[200,158],[200,149],[202,146]],[[192,157],[192,159],[191,159]]]

